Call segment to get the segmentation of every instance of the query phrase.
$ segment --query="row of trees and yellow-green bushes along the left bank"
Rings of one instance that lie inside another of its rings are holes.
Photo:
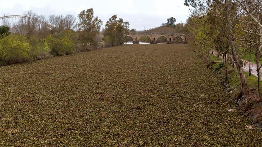
[[[113,15],[101,31],[103,22],[94,16],[92,8],[73,15],[23,14],[10,27],[3,20],[0,26],[0,66],[27,62],[53,56],[63,56],[91,49],[122,45],[128,34],[129,23]]]

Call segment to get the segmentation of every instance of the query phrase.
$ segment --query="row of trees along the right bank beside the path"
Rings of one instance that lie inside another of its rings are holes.
[[[224,80],[229,83],[228,70],[235,66],[240,93],[248,92],[243,70],[243,54],[252,53],[258,75],[258,93],[261,101],[262,80],[262,1],[261,0],[185,0],[191,16],[187,20],[191,37],[187,40],[195,48],[223,58]]]

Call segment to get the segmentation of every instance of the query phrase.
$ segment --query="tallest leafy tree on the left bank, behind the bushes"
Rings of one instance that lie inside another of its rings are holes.
[[[83,48],[88,50],[87,45],[96,44],[96,35],[100,33],[100,28],[103,24],[102,20],[94,17],[93,8],[83,10],[78,15],[79,20],[79,39]]]

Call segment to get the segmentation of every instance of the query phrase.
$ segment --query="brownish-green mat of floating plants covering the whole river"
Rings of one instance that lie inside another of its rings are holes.
[[[261,146],[248,125],[188,45],[0,67],[0,146]]]

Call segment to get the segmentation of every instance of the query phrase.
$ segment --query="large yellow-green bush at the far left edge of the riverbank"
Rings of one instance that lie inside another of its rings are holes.
[[[0,39],[0,61],[2,65],[31,60],[29,44],[23,36],[6,36]]]

